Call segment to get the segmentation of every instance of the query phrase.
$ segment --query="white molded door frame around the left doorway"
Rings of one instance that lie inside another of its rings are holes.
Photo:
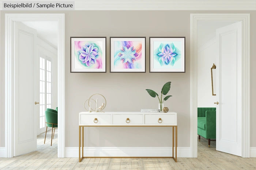
[[[5,14],[5,151],[14,156],[14,22],[57,21],[58,23],[58,157],[65,157],[65,14],[6,13]]]

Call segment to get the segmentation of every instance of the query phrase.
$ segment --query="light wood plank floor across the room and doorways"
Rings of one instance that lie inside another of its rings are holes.
[[[215,141],[201,138],[198,142],[198,158],[173,159],[156,158],[84,158],[78,162],[78,158],[57,157],[57,129],[55,131],[53,144],[50,146],[51,130],[46,135],[44,144],[44,133],[38,135],[37,150],[14,158],[0,158],[0,169],[78,169],[78,170],[169,170],[169,169],[256,169],[256,158],[241,158],[216,151]]]

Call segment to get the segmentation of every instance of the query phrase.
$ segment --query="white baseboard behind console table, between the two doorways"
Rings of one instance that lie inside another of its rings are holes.
[[[171,147],[84,147],[84,157],[171,157],[171,154]],[[78,156],[79,147],[65,147],[65,157]],[[190,147],[177,147],[177,157],[190,157]]]

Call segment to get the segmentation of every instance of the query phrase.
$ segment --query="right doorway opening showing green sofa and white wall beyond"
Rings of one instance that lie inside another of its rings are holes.
[[[216,104],[216,102],[220,95],[216,94],[216,82],[217,78],[219,78],[216,71],[220,69],[219,64],[217,64],[217,55],[219,54],[219,48],[217,47],[219,45],[217,42],[217,40],[219,40],[217,32],[220,28],[225,28],[228,25],[232,26],[234,23],[237,22],[205,20],[197,22],[197,66],[200,66],[197,67],[197,108],[199,108],[199,111],[197,111],[197,123],[200,125],[200,127],[197,126],[197,149],[199,155],[202,155],[202,152],[205,150],[208,151],[207,155],[209,156],[210,154],[215,154],[214,151],[216,151],[216,142],[218,142],[216,141],[216,136],[219,135],[219,131],[216,130],[219,129],[216,128],[218,121],[216,120],[216,114],[218,114],[218,110],[216,111],[218,104]],[[227,43],[232,43],[231,39],[226,41]],[[232,51],[230,51],[230,53],[232,53]],[[229,66],[230,68],[228,69],[233,67],[231,64]],[[230,87],[233,85],[231,83],[232,82],[230,81]],[[202,108],[203,113],[199,113],[201,112],[200,108]],[[205,113],[206,110],[215,110],[215,112]],[[205,114],[210,117],[206,117]],[[202,124],[206,127],[201,126]]]

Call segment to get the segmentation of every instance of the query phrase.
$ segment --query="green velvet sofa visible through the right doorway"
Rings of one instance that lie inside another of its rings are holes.
[[[197,134],[208,139],[208,147],[211,141],[216,139],[216,107],[197,107]]]

